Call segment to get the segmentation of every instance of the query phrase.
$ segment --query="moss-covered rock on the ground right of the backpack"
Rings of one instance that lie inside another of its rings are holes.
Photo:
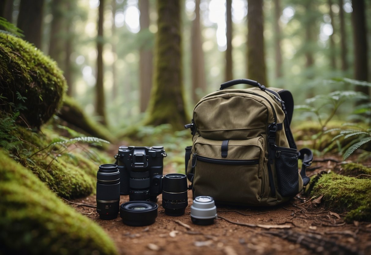
[[[332,210],[349,211],[345,220],[371,221],[371,180],[335,173],[323,175],[315,184],[312,196],[323,195]]]

